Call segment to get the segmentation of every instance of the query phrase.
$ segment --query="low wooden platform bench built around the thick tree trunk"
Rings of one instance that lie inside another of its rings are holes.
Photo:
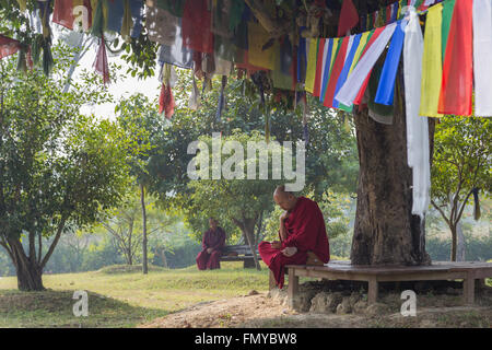
[[[367,301],[377,301],[379,282],[388,281],[440,281],[462,280],[464,299],[467,304],[475,303],[476,281],[484,284],[485,278],[492,278],[492,262],[450,262],[435,261],[431,266],[364,266],[351,265],[350,261],[335,260],[328,266],[288,265],[289,300],[292,301],[298,291],[300,277],[325,278],[331,280],[366,281],[368,283]],[[270,288],[274,287],[270,273]]]

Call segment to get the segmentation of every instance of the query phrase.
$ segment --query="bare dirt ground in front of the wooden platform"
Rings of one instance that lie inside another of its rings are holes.
[[[492,307],[425,307],[417,317],[399,313],[379,315],[311,314],[290,311],[267,293],[200,303],[185,311],[157,318],[143,328],[221,328],[221,327],[485,327],[492,326]]]

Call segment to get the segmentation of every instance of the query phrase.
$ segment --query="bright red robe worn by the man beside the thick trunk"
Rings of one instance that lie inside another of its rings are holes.
[[[272,270],[279,288],[283,287],[284,266],[305,265],[308,250],[315,253],[325,264],[330,259],[325,219],[315,201],[298,197],[284,225],[288,237],[280,249],[272,248],[269,242],[261,242],[258,246],[261,259]],[[296,247],[297,253],[286,257],[281,252],[285,247]]]

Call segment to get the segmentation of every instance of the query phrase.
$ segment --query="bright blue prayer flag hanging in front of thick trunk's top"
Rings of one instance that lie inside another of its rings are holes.
[[[388,54],[386,55],[375,98],[375,102],[382,105],[389,106],[393,105],[394,102],[395,80],[400,62],[401,50],[403,49],[406,26],[406,20],[398,22],[395,34],[393,35],[391,44],[389,45]]]

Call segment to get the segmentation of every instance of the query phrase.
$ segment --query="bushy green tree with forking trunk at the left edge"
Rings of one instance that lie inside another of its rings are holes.
[[[121,128],[79,112],[107,101],[105,93],[89,75],[63,92],[73,52],[63,46],[55,52],[60,58],[49,77],[0,61],[0,245],[19,289],[27,291],[44,289],[43,269],[61,234],[96,222],[128,185]],[[54,240],[43,254],[48,236]]]

